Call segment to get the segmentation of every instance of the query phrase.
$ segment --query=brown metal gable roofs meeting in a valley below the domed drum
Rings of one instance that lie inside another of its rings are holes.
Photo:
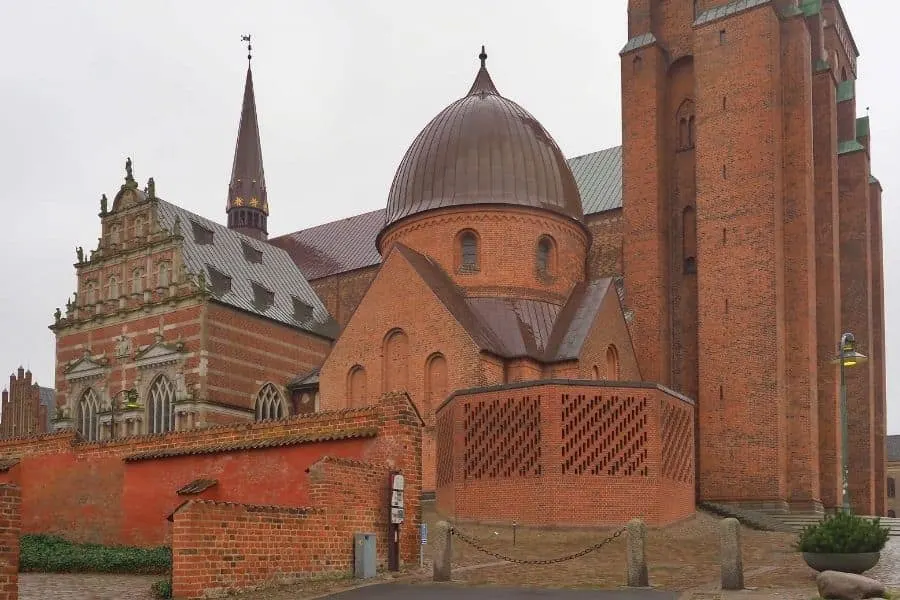
[[[539,300],[466,298],[436,262],[403,244],[395,247],[479,348],[504,358],[576,359],[612,284],[601,279],[576,286],[563,307]]]

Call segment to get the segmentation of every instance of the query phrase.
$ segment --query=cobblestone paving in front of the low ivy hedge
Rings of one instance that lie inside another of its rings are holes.
[[[19,600],[151,600],[161,575],[20,573]]]

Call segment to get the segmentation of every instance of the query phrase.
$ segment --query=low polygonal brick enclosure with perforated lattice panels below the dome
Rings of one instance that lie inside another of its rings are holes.
[[[437,510],[534,526],[672,523],[695,510],[694,406],[645,384],[544,381],[437,411]]]

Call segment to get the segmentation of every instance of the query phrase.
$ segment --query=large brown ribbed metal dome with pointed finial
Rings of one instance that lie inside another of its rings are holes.
[[[388,196],[385,227],[437,208],[507,204],[583,220],[578,186],[550,134],[497,91],[485,67],[416,137]]]

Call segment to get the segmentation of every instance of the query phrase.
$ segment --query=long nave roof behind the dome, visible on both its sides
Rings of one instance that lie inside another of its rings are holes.
[[[622,147],[568,160],[585,216],[622,208]],[[375,238],[385,224],[384,209],[289,233],[269,240],[291,255],[307,279],[371,267],[381,262]]]

